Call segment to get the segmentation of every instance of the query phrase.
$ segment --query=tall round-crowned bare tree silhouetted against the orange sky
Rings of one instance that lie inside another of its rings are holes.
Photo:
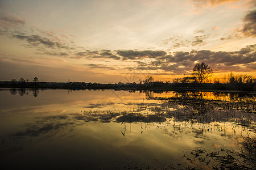
[[[195,76],[197,82],[199,82],[201,86],[202,83],[212,75],[212,73],[213,71],[210,69],[210,66],[204,62],[196,63],[192,70],[192,75]]]

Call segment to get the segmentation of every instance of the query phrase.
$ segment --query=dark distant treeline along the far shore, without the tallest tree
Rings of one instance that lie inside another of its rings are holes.
[[[238,91],[256,91],[256,79],[249,75],[234,75],[233,73],[225,76],[221,82],[214,79],[214,82],[199,83],[193,76],[174,79],[174,82],[155,81],[152,76],[147,76],[139,83],[85,83],[85,82],[39,82],[34,78],[32,82],[20,78],[19,81],[0,82],[0,87],[9,88],[64,88],[64,89],[114,89],[114,90],[238,90]]]

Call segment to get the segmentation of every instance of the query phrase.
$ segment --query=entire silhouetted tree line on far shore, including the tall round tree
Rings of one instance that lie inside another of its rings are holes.
[[[213,70],[204,62],[196,63],[191,71],[191,75],[183,78],[175,78],[173,82],[161,80],[155,81],[153,76],[148,75],[139,83],[84,83],[84,82],[68,82],[68,83],[54,83],[54,82],[39,82],[35,77],[32,82],[20,78],[19,81],[12,79],[9,83],[0,83],[1,87],[35,87],[36,88],[70,88],[70,89],[115,89],[115,90],[173,90],[174,88],[207,88],[209,90],[241,90],[241,91],[256,91],[256,79],[250,75],[238,74],[234,75],[232,72],[224,75],[223,81],[220,79],[213,79]]]

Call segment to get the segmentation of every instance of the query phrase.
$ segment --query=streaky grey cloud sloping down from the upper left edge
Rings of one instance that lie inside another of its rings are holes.
[[[69,50],[75,50],[74,45],[67,44],[70,42],[69,36],[65,35],[62,30],[44,31],[38,28],[27,27],[26,21],[19,17],[11,15],[0,16],[0,35],[25,41],[23,46],[35,48],[42,54],[51,56],[67,56]],[[27,29],[30,28],[30,29]],[[30,30],[28,32],[27,30]],[[50,48],[52,52],[48,52]],[[53,51],[56,49],[55,51]],[[61,51],[64,50],[64,51]],[[37,52],[37,53],[39,53]]]

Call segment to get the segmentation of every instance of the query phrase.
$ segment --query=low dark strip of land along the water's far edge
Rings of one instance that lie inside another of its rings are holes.
[[[150,87],[145,84],[100,84],[100,83],[84,83],[84,82],[8,82],[0,81],[0,88],[32,88],[32,89],[65,89],[65,90],[115,90],[115,91],[201,91],[201,92],[228,92],[228,93],[249,93],[256,94],[256,91],[241,91],[241,90],[220,90],[214,87],[214,84],[203,84],[203,87],[195,87],[195,84],[165,84],[167,87]],[[189,86],[189,85],[192,85]],[[176,87],[185,86],[185,87]],[[187,86],[187,87],[186,87]],[[197,84],[198,86],[198,84]],[[1,90],[1,89],[0,89]]]

